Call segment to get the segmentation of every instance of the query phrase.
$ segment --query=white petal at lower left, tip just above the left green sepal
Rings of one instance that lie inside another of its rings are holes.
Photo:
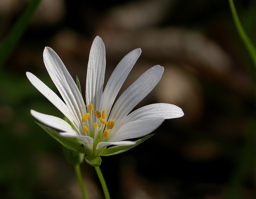
[[[43,124],[45,124],[49,127],[76,134],[76,131],[71,127],[71,125],[68,124],[65,120],[63,120],[61,118],[58,118],[58,117],[55,117],[52,115],[46,115],[43,113],[39,113],[34,110],[31,110],[30,113],[37,120],[39,120],[40,122],[42,122]]]

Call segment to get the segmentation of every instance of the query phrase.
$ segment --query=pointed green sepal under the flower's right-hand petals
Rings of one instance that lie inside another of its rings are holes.
[[[109,147],[107,149],[105,149],[101,154],[99,154],[100,156],[111,156],[111,155],[117,155],[117,154],[121,154],[125,151],[128,151],[129,149],[132,149],[135,146],[138,146],[139,144],[141,144],[142,142],[144,142],[145,140],[149,139],[150,137],[152,137],[155,134],[150,134],[145,136],[142,139],[139,139],[136,142],[136,144],[134,145],[130,145],[130,146],[112,146]]]

